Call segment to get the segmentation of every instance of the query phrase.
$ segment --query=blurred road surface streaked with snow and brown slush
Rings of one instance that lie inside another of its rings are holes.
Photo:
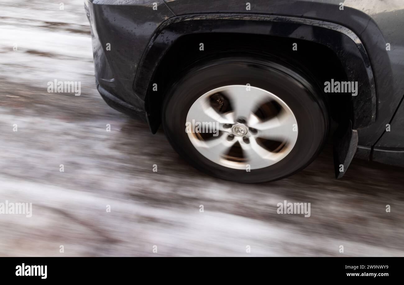
[[[30,218],[0,215],[1,256],[404,255],[403,169],[353,160],[335,180],[328,145],[278,182],[204,175],[98,95],[82,0],[0,11],[0,202],[33,203]],[[48,93],[55,78],[81,81],[81,96]],[[311,217],[278,215],[284,200]]]

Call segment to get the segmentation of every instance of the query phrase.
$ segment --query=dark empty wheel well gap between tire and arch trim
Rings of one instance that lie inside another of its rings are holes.
[[[203,43],[203,50],[200,50],[201,43]],[[294,46],[297,50],[293,49]],[[160,125],[164,96],[181,74],[202,61],[227,55],[276,59],[318,84],[320,90],[324,90],[324,82],[331,79],[347,80],[337,55],[322,44],[308,40],[254,34],[188,34],[181,36],[171,45],[151,79],[151,84],[157,83],[158,86],[158,91],[151,91],[149,88],[145,98],[145,109],[151,129],[156,131]],[[333,120],[346,122],[352,118],[349,94],[322,92],[322,96],[328,104]]]

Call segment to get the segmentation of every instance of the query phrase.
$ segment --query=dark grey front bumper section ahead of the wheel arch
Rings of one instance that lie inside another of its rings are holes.
[[[153,3],[157,10],[153,10]],[[86,1],[95,78],[105,91],[133,106],[145,119],[144,101],[132,88],[139,62],[157,27],[174,14],[162,0]],[[110,44],[110,50],[106,45]]]

